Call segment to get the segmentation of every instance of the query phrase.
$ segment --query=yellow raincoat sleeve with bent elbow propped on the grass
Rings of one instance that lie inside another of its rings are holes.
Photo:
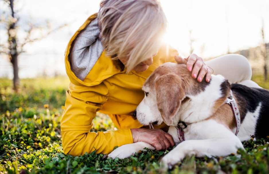
[[[96,153],[107,154],[115,146],[133,143],[130,129],[89,132],[96,112],[108,99],[108,89],[104,82],[91,87],[70,83],[66,96],[61,120],[65,154],[79,156],[94,150]]]

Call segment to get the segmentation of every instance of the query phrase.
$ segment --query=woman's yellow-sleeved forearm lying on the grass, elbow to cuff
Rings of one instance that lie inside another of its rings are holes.
[[[62,132],[65,154],[79,156],[96,150],[96,153],[109,154],[115,146],[132,143],[130,129],[105,132],[65,131]]]

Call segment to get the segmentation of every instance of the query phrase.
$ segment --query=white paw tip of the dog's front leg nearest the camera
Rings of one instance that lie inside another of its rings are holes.
[[[171,169],[177,162],[183,160],[184,154],[176,149],[171,150],[161,159],[161,167],[165,170]]]

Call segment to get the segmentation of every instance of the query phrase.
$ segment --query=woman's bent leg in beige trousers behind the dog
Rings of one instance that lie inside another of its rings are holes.
[[[206,61],[206,65],[213,69],[213,74],[221,74],[231,83],[260,88],[257,83],[251,80],[251,67],[247,58],[242,55],[226,54]]]

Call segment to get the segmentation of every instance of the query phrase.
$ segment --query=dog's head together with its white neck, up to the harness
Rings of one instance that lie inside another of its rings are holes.
[[[165,63],[144,83],[145,97],[136,116],[143,125],[160,125],[164,121],[168,126],[176,126],[180,120],[202,121],[226,102],[230,88],[229,81],[221,75],[212,75],[209,83],[198,82],[186,65]]]

